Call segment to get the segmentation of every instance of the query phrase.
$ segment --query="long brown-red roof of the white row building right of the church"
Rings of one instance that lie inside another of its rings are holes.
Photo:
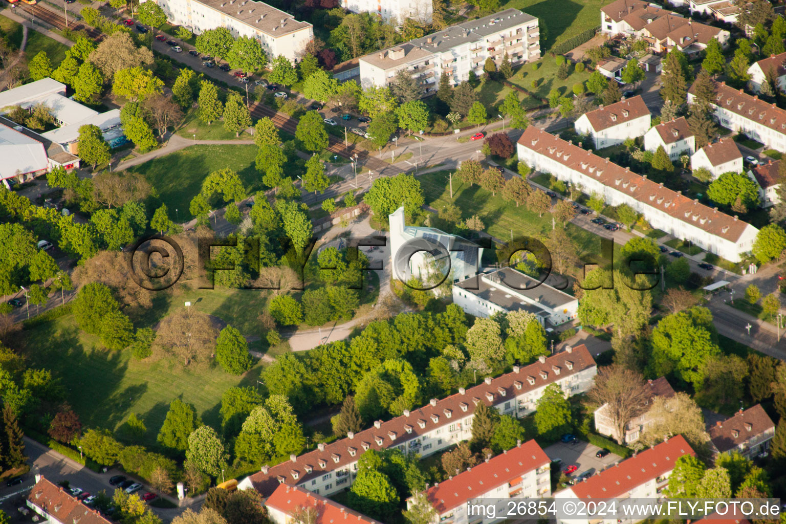
[[[665,212],[730,242],[739,240],[749,226],[747,222],[707,207],[698,200],[691,200],[663,184],[636,174],[629,168],[620,167],[608,159],[602,159],[535,126],[528,126],[518,143],[571,170],[593,177],[603,185],[625,192],[657,211]]]

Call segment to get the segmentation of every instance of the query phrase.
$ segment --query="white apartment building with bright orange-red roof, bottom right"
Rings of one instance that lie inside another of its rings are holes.
[[[629,459],[608,467],[595,475],[577,482],[562,491],[554,493],[560,499],[656,499],[669,483],[674,462],[684,455],[696,456],[682,435],[669,438],[650,449],[646,449]],[[638,522],[635,519],[626,522]],[[585,518],[556,519],[557,524],[589,524]],[[594,518],[593,524],[618,524],[613,519]]]

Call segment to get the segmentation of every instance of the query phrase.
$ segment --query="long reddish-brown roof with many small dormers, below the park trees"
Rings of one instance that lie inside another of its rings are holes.
[[[568,368],[568,365],[572,369]],[[553,371],[553,366],[560,369],[559,375]],[[463,394],[459,390],[459,393],[450,397],[434,400],[433,405],[429,403],[422,408],[413,409],[409,415],[405,413],[387,422],[377,421],[373,427],[353,434],[351,438],[347,436],[330,444],[319,445],[318,449],[296,456],[294,460],[277,464],[266,472],[263,470],[255,473],[249,480],[259,493],[267,497],[280,482],[300,483],[321,477],[329,471],[352,464],[367,449],[387,449],[406,443],[437,427],[461,422],[465,416],[475,412],[476,401],[486,405],[498,405],[515,398],[516,395],[544,387],[593,366],[595,361],[586,346],[575,346],[570,353],[567,350],[561,351],[545,358],[545,362],[537,361],[520,368],[519,372],[514,369],[513,372],[495,379],[488,378],[488,383],[480,383],[465,390]],[[337,460],[333,460],[332,456],[336,456]],[[294,475],[297,475],[297,478]]]

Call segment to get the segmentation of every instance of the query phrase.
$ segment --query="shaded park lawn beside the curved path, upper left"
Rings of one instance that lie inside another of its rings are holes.
[[[130,171],[144,174],[160,201],[167,204],[170,212],[178,210],[178,220],[186,221],[193,218],[189,212],[191,199],[202,189],[202,181],[215,170],[228,167],[237,171],[248,194],[263,189],[255,157],[255,145],[193,145],[131,167]]]

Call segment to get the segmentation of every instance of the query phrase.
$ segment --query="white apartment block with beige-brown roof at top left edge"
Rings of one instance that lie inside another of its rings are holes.
[[[156,2],[172,24],[188,27],[196,35],[226,27],[232,35],[256,38],[272,60],[284,55],[289,60],[303,56],[314,39],[314,27],[292,15],[255,0],[146,0]]]

